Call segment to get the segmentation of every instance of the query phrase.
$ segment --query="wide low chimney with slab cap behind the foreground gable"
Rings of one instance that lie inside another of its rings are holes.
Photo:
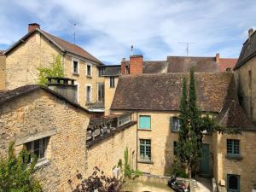
[[[61,96],[66,97],[71,102],[77,101],[78,87],[74,84],[74,79],[47,77],[47,86]]]

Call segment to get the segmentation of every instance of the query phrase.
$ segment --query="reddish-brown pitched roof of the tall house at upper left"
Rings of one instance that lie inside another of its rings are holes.
[[[40,32],[42,35],[44,35],[45,38],[47,38],[49,40],[49,42],[54,44],[58,49],[61,49],[62,52],[68,52],[68,53],[72,53],[74,55],[79,55],[81,57],[84,57],[84,59],[94,61],[98,64],[102,64],[102,61],[99,61],[98,59],[96,59],[95,56],[90,55],[90,53],[88,53],[86,50],[79,47],[78,45],[71,44],[61,38],[57,38],[54,35],[49,34],[49,32],[44,32],[43,30],[38,29],[38,28],[32,32],[28,32],[24,37],[20,38],[20,40],[18,42],[16,42],[15,44],[13,44],[9,49],[7,49],[4,52],[4,54],[8,54],[11,50],[15,49],[15,47],[22,44],[23,41],[26,40],[26,38],[29,38],[34,32]]]

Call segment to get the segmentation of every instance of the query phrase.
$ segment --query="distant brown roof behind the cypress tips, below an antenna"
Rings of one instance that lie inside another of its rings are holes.
[[[194,67],[195,72],[218,72],[215,57],[168,56],[168,73],[189,72]]]

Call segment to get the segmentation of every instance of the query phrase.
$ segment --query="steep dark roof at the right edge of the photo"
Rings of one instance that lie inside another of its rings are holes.
[[[246,61],[248,61],[250,58],[252,58],[255,55],[256,55],[256,31],[253,32],[250,39],[247,39],[247,41],[243,44],[241,48],[241,53],[239,55],[239,58],[234,70],[241,67]]]

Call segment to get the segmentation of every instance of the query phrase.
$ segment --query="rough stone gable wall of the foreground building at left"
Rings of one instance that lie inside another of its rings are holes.
[[[11,141],[16,141],[16,149],[20,150],[22,138],[55,131],[49,137],[47,159],[38,164],[35,177],[44,192],[70,191],[68,179],[75,177],[77,170],[86,174],[88,125],[88,113],[46,90],[37,90],[0,107],[0,155],[6,154]]]

